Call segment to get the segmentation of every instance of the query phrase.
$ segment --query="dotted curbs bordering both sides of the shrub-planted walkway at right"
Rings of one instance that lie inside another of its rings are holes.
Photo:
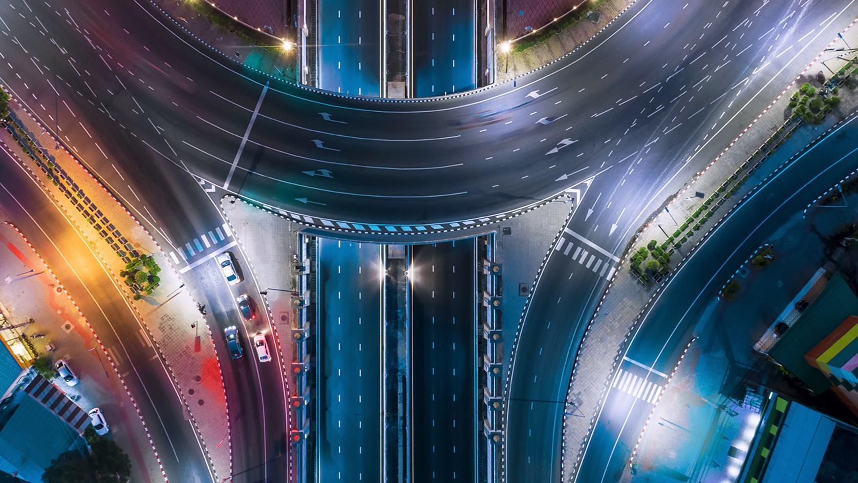
[[[849,23],[849,25],[843,29],[843,32],[845,33],[845,32],[847,32],[847,31],[849,31],[849,29],[855,25],[855,22],[856,22],[856,21],[858,21],[858,18],[856,18],[855,20],[853,20],[852,22],[850,22],[850,23]],[[827,48],[831,47],[831,45],[834,45],[834,44],[836,43],[836,41],[837,41],[837,38],[832,39],[832,40],[831,40],[831,42],[829,42],[829,44],[828,44],[828,45],[826,45],[825,49],[827,49]],[[746,134],[746,132],[747,132],[748,130],[750,130],[750,129],[751,129],[751,127],[752,127],[754,124],[756,124],[756,123],[757,123],[757,121],[758,121],[760,118],[762,118],[762,117],[763,117],[763,115],[764,115],[766,112],[768,112],[768,111],[770,110],[770,108],[771,108],[772,106],[774,106],[778,100],[781,100],[781,99],[782,99],[782,97],[783,97],[785,94],[787,94],[787,93],[789,92],[789,89],[790,89],[790,88],[792,88],[792,87],[795,85],[795,83],[796,83],[796,82],[798,82],[799,80],[801,80],[801,77],[807,73],[807,70],[809,70],[809,69],[813,66],[813,64],[817,63],[817,61],[819,61],[819,58],[820,58],[820,57],[822,57],[822,55],[825,53],[825,49],[824,49],[823,51],[820,51],[820,52],[819,52],[819,54],[817,55],[817,57],[816,57],[816,58],[814,58],[814,59],[813,59],[813,61],[812,61],[811,63],[808,63],[808,64],[807,64],[807,66],[806,66],[803,70],[801,70],[801,73],[800,73],[799,75],[796,75],[795,79],[794,79],[792,82],[790,82],[790,83],[789,83],[789,85],[787,85],[787,87],[786,87],[786,88],[784,88],[784,89],[781,91],[781,94],[778,94],[778,95],[776,96],[775,100],[772,100],[772,101],[769,103],[769,105],[768,105],[768,106],[766,106],[766,107],[764,108],[763,112],[760,112],[760,114],[758,114],[758,116],[757,116],[756,118],[754,118],[754,119],[752,120],[752,122],[751,122],[750,124],[748,124],[748,125],[746,126],[746,128],[740,132],[739,136],[736,136],[736,137],[734,138],[734,140],[728,144],[728,147],[727,147],[727,148],[724,148],[724,149],[722,150],[722,152],[721,152],[720,154],[718,154],[714,160],[710,161],[710,163],[709,163],[707,166],[705,166],[705,167],[704,167],[704,169],[703,169],[703,170],[701,170],[701,171],[697,172],[696,174],[694,174],[694,175],[692,176],[692,183],[687,184],[685,188],[681,189],[681,190],[676,194],[676,196],[674,196],[674,199],[679,198],[680,196],[682,196],[682,194],[683,194],[683,193],[685,193],[687,190],[691,189],[692,185],[694,185],[694,183],[698,181],[698,179],[699,179],[699,178],[704,174],[704,172],[708,171],[708,170],[710,169],[710,167],[714,166],[714,165],[715,165],[715,163],[716,163],[716,161],[720,160],[720,159],[722,158],[722,156],[723,156],[724,154],[726,154],[726,153],[727,153],[728,149],[729,149],[729,148],[731,148],[731,147],[733,147],[733,146],[734,146],[734,144],[735,144],[736,142],[738,142],[738,141],[739,141],[739,139],[740,139],[740,137],[741,137],[741,136],[744,136],[744,135]],[[854,116],[854,115],[855,115],[855,114],[853,114],[853,116]],[[798,153],[801,153],[801,152],[805,151],[805,150],[806,150],[809,146],[811,146],[813,143],[815,143],[815,142],[819,141],[819,138],[821,138],[822,136],[825,136],[825,134],[827,134],[829,131],[831,131],[832,129],[834,129],[834,127],[837,127],[837,125],[839,125],[839,124],[841,124],[841,123],[843,123],[843,121],[840,121],[839,123],[835,124],[835,126],[833,126],[831,129],[829,129],[828,131],[826,131],[823,135],[820,135],[819,137],[817,137],[817,138],[816,138],[815,140],[813,140],[812,142],[809,142],[809,143],[807,144],[807,146],[805,146],[805,148],[802,148],[801,150],[799,150],[799,152],[798,152]],[[797,154],[798,154],[798,153],[797,153]],[[775,170],[774,172],[772,172],[771,174],[774,174],[774,173],[776,173],[776,172],[779,172],[779,171],[780,171],[780,169],[782,169],[782,167],[783,167],[783,166],[785,166],[785,165],[786,165],[786,164],[788,164],[790,161],[792,161],[792,160],[795,158],[795,156],[796,156],[797,154],[794,154],[794,155],[789,159],[789,161],[785,162],[782,166],[778,166],[778,168],[776,168],[776,170]],[[770,176],[771,176],[771,174],[770,174]],[[757,189],[757,187],[752,188],[752,191],[751,191],[751,192],[754,192],[754,190],[756,190],[756,189]],[[748,195],[746,195],[746,196],[748,196]],[[689,251],[688,255],[686,255],[686,257],[683,257],[683,259],[680,261],[680,263],[678,263],[678,264],[677,264],[676,268],[674,268],[668,276],[666,276],[664,279],[662,279],[662,284],[663,284],[663,283],[666,283],[670,278],[672,278],[672,276],[674,275],[674,273],[675,273],[675,272],[676,272],[676,271],[677,271],[677,270],[678,270],[678,269],[679,269],[679,268],[680,268],[680,267],[685,263],[685,261],[686,261],[686,259],[688,258],[688,256],[690,256],[692,253],[694,253],[694,251],[696,250],[696,248],[698,247],[698,245],[699,245],[702,241],[704,241],[706,238],[708,238],[708,236],[709,236],[710,232],[712,232],[712,230],[713,230],[713,229],[715,229],[717,226],[719,226],[719,225],[720,225],[720,223],[722,222],[722,220],[724,220],[724,217],[726,217],[726,216],[728,216],[728,214],[732,213],[732,212],[733,212],[733,209],[734,209],[736,206],[740,206],[741,202],[744,202],[744,200],[745,200],[746,196],[743,196],[743,197],[742,197],[742,199],[740,200],[740,202],[739,202],[738,204],[734,205],[734,207],[733,207],[733,208],[731,208],[731,209],[728,211],[728,213],[724,214],[724,215],[722,216],[722,218],[721,218],[721,219],[719,219],[719,220],[717,220],[717,221],[716,221],[716,223],[715,223],[715,225],[714,225],[714,226],[710,227],[710,230],[709,230],[708,232],[704,233],[703,237],[702,237],[702,238],[700,238],[700,240],[698,240],[698,243],[692,246],[692,249],[691,249],[691,251]],[[660,212],[661,212],[661,210],[658,210],[658,212],[656,212],[656,213],[654,213],[654,214],[650,215],[650,220],[648,220],[648,221],[644,224],[644,226],[641,226],[641,228],[639,228],[639,229],[637,230],[637,233],[636,233],[636,234],[631,238],[631,241],[629,242],[629,244],[628,244],[628,245],[626,245],[626,250],[625,250],[625,252],[624,252],[623,256],[622,256],[622,257],[620,257],[620,261],[619,261],[619,263],[618,263],[618,266],[620,266],[620,265],[622,265],[623,263],[625,263],[626,258],[628,258],[628,257],[631,255],[631,247],[633,247],[635,244],[637,244],[638,238],[640,238],[641,236],[643,236],[643,234],[644,234],[644,230],[650,226],[650,224],[652,223],[652,221],[653,221],[653,220],[655,220],[656,214],[658,214],[658,213],[660,213]],[[599,300],[598,305],[596,305],[596,309],[595,309],[595,311],[594,311],[594,313],[593,313],[593,316],[592,316],[592,317],[590,317],[589,322],[587,323],[587,327],[586,327],[586,329],[584,329],[583,339],[582,339],[582,341],[581,341],[581,344],[578,346],[578,350],[576,351],[576,355],[575,355],[575,362],[574,362],[574,363],[573,363],[573,365],[572,365],[572,374],[571,374],[571,379],[570,379],[570,383],[569,383],[569,389],[567,389],[567,391],[566,391],[566,398],[567,398],[567,400],[568,400],[569,396],[571,395],[572,386],[573,386],[573,384],[575,383],[575,377],[577,376],[577,367],[578,367],[578,364],[580,363],[580,356],[581,356],[581,350],[580,350],[580,349],[581,349],[581,347],[583,347],[583,346],[584,346],[584,344],[586,343],[587,335],[589,335],[589,329],[592,327],[592,324],[595,322],[595,317],[597,317],[597,316],[598,316],[598,314],[599,314],[599,309],[601,308],[602,303],[604,302],[605,298],[607,297],[607,293],[610,291],[611,287],[613,287],[613,281],[615,281],[615,280],[616,280],[617,275],[619,275],[619,270],[618,270],[618,271],[613,275],[612,279],[611,279],[610,281],[608,281],[608,283],[607,283],[607,287],[605,287],[605,291],[602,293],[602,296],[601,296],[601,299]],[[637,316],[637,318],[635,319],[635,321],[631,324],[631,326],[630,326],[630,329],[629,329],[628,333],[626,333],[626,335],[625,335],[625,341],[623,341],[623,344],[620,346],[617,356],[615,356],[615,357],[614,357],[613,365],[612,365],[612,372],[611,372],[611,375],[613,375],[613,371],[615,371],[615,370],[616,370],[616,367],[617,367],[617,365],[618,365],[618,363],[619,363],[618,361],[619,361],[619,359],[620,359],[620,354],[622,353],[623,348],[625,347],[625,343],[626,343],[626,341],[628,341],[628,339],[629,339],[629,337],[631,336],[632,332],[633,332],[633,331],[634,331],[634,329],[636,328],[638,321],[640,320],[641,316],[643,316],[644,311],[646,311],[647,307],[649,307],[649,306],[650,306],[650,303],[652,302],[652,300],[653,300],[653,299],[655,299],[656,294],[657,294],[657,293],[660,293],[660,291],[662,290],[662,287],[663,287],[663,285],[661,285],[660,287],[658,287],[658,288],[656,289],[656,293],[654,293],[654,294],[653,294],[653,296],[652,296],[652,297],[650,297],[650,300],[648,300],[648,301],[647,301],[647,303],[644,305],[644,309],[642,309],[642,311],[638,314],[638,316]],[[607,387],[608,387],[608,384],[609,384],[609,383],[610,383],[610,375],[609,375],[609,377],[608,377],[608,379],[607,379],[607,381],[606,381],[606,383],[605,383],[605,387],[602,389],[601,397],[600,397],[599,401],[598,401],[598,402],[597,402],[597,404],[596,404],[596,408],[597,408],[596,414],[598,414],[598,408],[601,408],[602,403],[603,403],[603,402],[604,402],[604,400],[605,400],[605,396],[607,395]],[[563,443],[562,443],[562,444],[564,445],[564,447],[565,447],[565,439],[566,439],[565,435],[566,435],[566,426],[567,426],[567,420],[568,420],[568,417],[569,417],[568,415],[564,415],[564,418],[563,418],[563,426],[562,426],[562,429],[561,429],[561,438],[563,438]],[[574,465],[573,465],[573,466],[572,466],[572,468],[571,468],[571,473],[569,474],[569,480],[570,480],[570,481],[574,481],[574,480],[575,480],[575,477],[576,477],[576,475],[577,475],[577,470],[580,468],[581,459],[582,459],[582,457],[583,457],[583,451],[584,451],[584,449],[586,448],[587,443],[588,443],[588,441],[589,441],[589,438],[590,438],[590,437],[591,437],[591,435],[592,435],[592,431],[593,431],[593,427],[594,427],[594,425],[595,425],[595,416],[594,416],[594,419],[590,421],[590,425],[589,425],[588,433],[587,433],[587,435],[586,435],[586,436],[584,436],[584,438],[583,438],[583,441],[582,441],[582,443],[581,443],[580,449],[578,450],[578,454],[577,454],[576,461],[575,461]],[[566,452],[565,452],[565,450],[564,450],[564,451],[561,453],[561,455],[560,455],[560,471],[561,471],[561,480],[565,478],[565,477],[564,477],[564,472],[565,472],[565,458],[566,458]]]

